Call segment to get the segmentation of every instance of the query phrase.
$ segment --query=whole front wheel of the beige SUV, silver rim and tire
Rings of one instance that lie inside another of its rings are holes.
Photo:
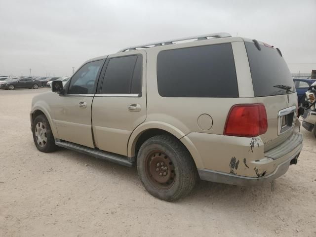
[[[35,146],[39,151],[48,153],[57,150],[55,138],[44,115],[39,115],[34,119],[32,132]]]

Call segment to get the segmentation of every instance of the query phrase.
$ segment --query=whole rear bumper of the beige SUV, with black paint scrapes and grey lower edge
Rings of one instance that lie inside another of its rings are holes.
[[[264,152],[260,137],[246,138],[205,133],[190,133],[196,147],[192,154],[202,180],[241,186],[260,185],[283,175],[290,164],[296,164],[303,148],[299,120],[287,139]],[[197,155],[198,156],[197,156]]]

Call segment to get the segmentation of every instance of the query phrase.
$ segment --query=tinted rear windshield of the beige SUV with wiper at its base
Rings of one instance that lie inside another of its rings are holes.
[[[245,42],[255,97],[295,92],[291,73],[275,48]]]

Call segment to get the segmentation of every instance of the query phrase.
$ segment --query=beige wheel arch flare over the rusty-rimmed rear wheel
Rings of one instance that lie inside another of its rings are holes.
[[[131,134],[127,145],[127,156],[135,157],[141,145],[149,138],[168,134],[176,137],[189,151],[194,159],[197,168],[204,168],[201,157],[197,152],[197,148],[191,140],[181,130],[164,122],[149,122],[139,125]]]

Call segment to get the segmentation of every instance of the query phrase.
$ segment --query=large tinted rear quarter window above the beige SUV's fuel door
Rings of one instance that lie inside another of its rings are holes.
[[[161,51],[157,80],[163,97],[238,97],[231,43]]]

